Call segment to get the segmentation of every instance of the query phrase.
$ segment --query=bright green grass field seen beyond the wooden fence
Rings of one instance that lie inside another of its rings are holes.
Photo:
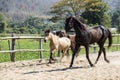
[[[106,44],[108,44],[108,41],[106,41]],[[113,44],[120,44],[120,37],[113,37]],[[47,49],[49,50],[49,42],[44,43],[42,42],[42,47],[43,49]],[[9,50],[9,45],[8,45],[8,40],[2,40],[0,41],[0,50]],[[15,49],[19,50],[19,49],[39,49],[39,42],[36,40],[32,40],[32,39],[19,39],[16,40],[16,44],[15,44]],[[97,52],[98,52],[99,48],[97,48]],[[120,46],[112,46],[109,50],[106,47],[107,51],[120,51]],[[94,50],[93,48],[89,49],[90,53],[93,53]],[[70,51],[71,52],[71,51]],[[79,52],[79,54],[84,54],[85,53],[85,49],[81,49],[81,51]],[[72,52],[71,52],[72,54]],[[20,60],[31,60],[31,59],[39,59],[39,52],[16,52],[16,57],[15,60],[16,61],[20,61]],[[54,54],[54,56],[57,56],[57,52]],[[49,57],[49,52],[43,52],[43,58],[48,58]],[[10,54],[9,53],[0,53],[0,62],[8,62],[10,61]]]

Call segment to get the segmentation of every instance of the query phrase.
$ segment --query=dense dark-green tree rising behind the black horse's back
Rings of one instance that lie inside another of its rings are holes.
[[[108,15],[107,11],[108,11],[108,6],[102,0],[89,0],[86,3],[86,9],[81,16],[84,19],[87,19],[88,24],[103,25],[102,23],[104,22],[110,24],[110,20],[108,20],[110,19],[110,15]]]

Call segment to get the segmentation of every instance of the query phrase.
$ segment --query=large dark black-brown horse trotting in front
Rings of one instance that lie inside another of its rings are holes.
[[[86,58],[91,67],[94,65],[89,59],[89,45],[92,43],[97,43],[99,46],[99,53],[98,57],[95,61],[99,60],[101,53],[104,54],[104,60],[109,63],[109,60],[106,58],[106,51],[104,48],[105,41],[108,38],[109,45],[108,48],[112,45],[112,35],[109,29],[105,28],[104,26],[98,25],[92,28],[87,28],[82,22],[77,20],[75,17],[68,17],[65,22],[65,30],[68,32],[71,28],[74,28],[76,36],[75,36],[75,49],[72,54],[72,60],[69,67],[72,67],[74,62],[74,57],[77,51],[79,50],[80,46],[84,46],[86,50]]]

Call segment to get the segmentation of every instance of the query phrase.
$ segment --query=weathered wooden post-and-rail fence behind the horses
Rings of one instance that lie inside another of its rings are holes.
[[[112,36],[118,36],[120,37],[120,34],[112,34]],[[19,49],[15,50],[15,43],[17,39],[35,39],[39,41],[39,49]],[[8,45],[9,45],[9,50],[7,51],[0,51],[0,53],[10,53],[10,59],[12,62],[15,61],[15,52],[40,52],[40,59],[42,59],[42,52],[47,52],[48,50],[42,48],[42,41],[44,37],[39,37],[39,36],[14,36],[12,34],[11,37],[0,37],[0,40],[8,40]],[[107,46],[107,45],[105,45]],[[120,46],[120,44],[112,44],[112,46]],[[96,51],[97,45],[91,45],[90,47],[94,48],[94,51]]]

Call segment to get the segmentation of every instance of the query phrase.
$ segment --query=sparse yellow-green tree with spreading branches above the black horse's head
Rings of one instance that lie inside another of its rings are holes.
[[[61,0],[51,7],[52,21],[64,19],[68,15],[79,16],[85,8],[86,0]]]

